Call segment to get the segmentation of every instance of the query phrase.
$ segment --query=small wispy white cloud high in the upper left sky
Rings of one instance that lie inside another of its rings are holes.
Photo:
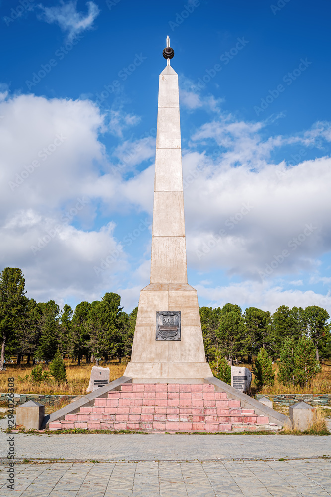
[[[39,4],[38,7],[43,11],[39,18],[49,24],[57,23],[63,31],[67,32],[68,40],[71,41],[79,33],[91,29],[94,20],[100,13],[98,6],[93,1],[88,1],[86,5],[87,14],[77,12],[77,0],[67,2],[60,0],[60,5],[55,7],[44,7],[44,5]]]

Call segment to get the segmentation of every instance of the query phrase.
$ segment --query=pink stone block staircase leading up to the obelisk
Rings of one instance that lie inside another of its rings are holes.
[[[273,430],[267,416],[242,409],[240,400],[215,392],[211,384],[121,384],[121,390],[99,397],[94,406],[51,422],[50,429],[143,431]]]

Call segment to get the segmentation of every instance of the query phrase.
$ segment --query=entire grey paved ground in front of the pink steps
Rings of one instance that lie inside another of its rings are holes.
[[[1,497],[331,496],[331,460],[317,459],[331,456],[327,436],[14,436],[18,461],[63,462],[18,462],[9,491],[8,435],[0,433]]]

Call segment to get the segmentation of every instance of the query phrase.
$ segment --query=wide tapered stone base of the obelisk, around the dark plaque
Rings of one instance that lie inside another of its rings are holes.
[[[181,311],[181,340],[156,340],[156,312]],[[185,283],[151,283],[141,290],[131,362],[133,383],[203,383],[205,360],[197,291]]]

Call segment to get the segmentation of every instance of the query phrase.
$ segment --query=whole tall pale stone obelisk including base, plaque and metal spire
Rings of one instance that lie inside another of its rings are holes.
[[[187,283],[178,75],[163,50],[159,77],[150,284],[140,292],[131,361],[133,383],[203,383],[206,362],[197,291]]]

